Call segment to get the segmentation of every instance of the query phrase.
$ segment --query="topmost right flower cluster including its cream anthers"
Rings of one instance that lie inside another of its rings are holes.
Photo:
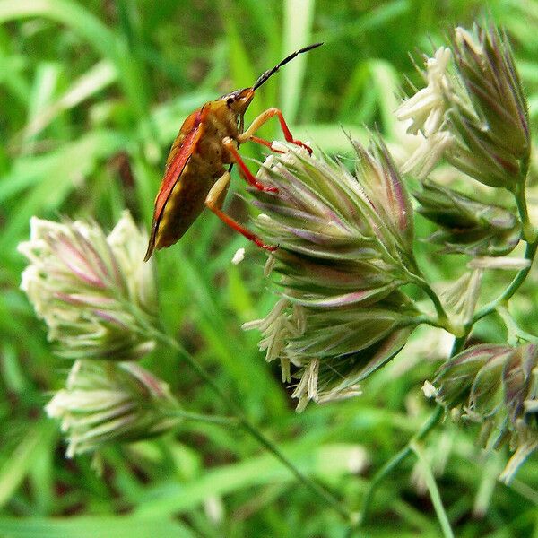
[[[451,48],[425,63],[427,86],[396,110],[411,122],[408,133],[421,136],[404,171],[426,178],[446,157],[484,185],[514,191],[525,181],[530,134],[507,36],[493,27],[456,28]]]

